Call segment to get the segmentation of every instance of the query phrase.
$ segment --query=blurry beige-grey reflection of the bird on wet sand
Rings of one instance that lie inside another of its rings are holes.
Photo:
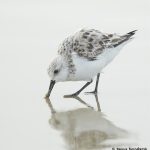
[[[80,97],[74,98],[87,108],[56,112],[50,99],[46,99],[52,114],[49,123],[62,132],[67,149],[102,149],[112,147],[112,144],[107,143],[108,140],[127,137],[128,133],[125,130],[106,119],[101,112],[97,95],[95,95],[97,111]]]

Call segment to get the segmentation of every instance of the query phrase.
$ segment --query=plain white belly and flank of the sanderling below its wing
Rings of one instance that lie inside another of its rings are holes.
[[[122,47],[106,49],[94,61],[89,61],[86,58],[74,55],[73,62],[75,64],[76,73],[72,80],[91,80],[94,76],[97,75],[97,73],[100,73],[102,69],[114,59],[121,48]]]

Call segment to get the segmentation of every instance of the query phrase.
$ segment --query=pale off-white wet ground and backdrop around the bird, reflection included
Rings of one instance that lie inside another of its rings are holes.
[[[0,0],[0,149],[150,148],[149,16],[149,0]],[[58,45],[81,28],[138,30],[103,70],[101,112],[93,95],[81,94],[88,105],[63,98],[84,82],[58,83],[51,102],[44,99]]]

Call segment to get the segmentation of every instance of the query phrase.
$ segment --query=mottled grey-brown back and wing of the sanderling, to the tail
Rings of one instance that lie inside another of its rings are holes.
[[[61,44],[59,54],[71,54],[75,52],[88,60],[95,60],[108,48],[115,48],[125,41],[129,40],[135,31],[129,32],[123,36],[117,34],[104,34],[95,29],[82,29],[75,35],[68,37]]]

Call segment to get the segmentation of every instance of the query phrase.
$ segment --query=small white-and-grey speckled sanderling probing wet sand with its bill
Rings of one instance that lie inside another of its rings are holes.
[[[82,29],[66,38],[58,49],[58,56],[48,68],[51,82],[46,97],[50,96],[56,82],[87,81],[79,91],[67,95],[77,96],[97,75],[95,90],[89,92],[96,94],[102,69],[132,39],[135,31],[120,36],[102,33],[95,29]]]

